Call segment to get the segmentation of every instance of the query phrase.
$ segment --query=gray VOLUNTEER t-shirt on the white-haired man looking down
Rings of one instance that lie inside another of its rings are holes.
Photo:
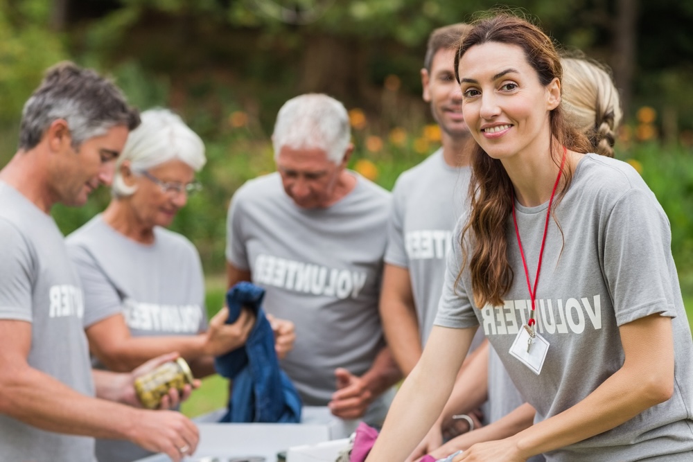
[[[362,375],[384,344],[378,295],[390,195],[349,173],[355,188],[328,208],[297,206],[276,172],[247,181],[229,207],[227,260],[265,288],[267,312],[295,323],[281,366],[304,405],[326,405],[335,368]]]

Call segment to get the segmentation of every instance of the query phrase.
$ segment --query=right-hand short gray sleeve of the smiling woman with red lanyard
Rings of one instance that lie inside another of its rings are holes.
[[[672,234],[655,197],[638,188],[626,191],[608,215],[602,242],[617,324],[655,313],[675,317]]]

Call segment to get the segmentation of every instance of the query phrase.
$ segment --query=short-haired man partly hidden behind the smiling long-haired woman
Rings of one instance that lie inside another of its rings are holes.
[[[423,100],[430,104],[440,127],[441,148],[403,172],[392,190],[380,315],[387,344],[405,375],[419,361],[433,326],[446,251],[468,205],[474,141],[462,118],[462,91],[455,80],[454,62],[457,45],[470,28],[452,24],[433,30],[428,38],[421,85]],[[478,334],[472,348],[482,339]],[[485,396],[485,389],[481,393]],[[457,432],[471,429],[474,422],[479,423],[471,414],[455,425],[446,424]]]

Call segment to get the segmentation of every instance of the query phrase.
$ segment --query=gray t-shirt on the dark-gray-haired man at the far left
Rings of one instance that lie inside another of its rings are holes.
[[[2,181],[0,242],[0,319],[31,323],[29,366],[94,396],[82,287],[62,233]],[[0,460],[93,462],[94,439],[44,432],[0,414]]]

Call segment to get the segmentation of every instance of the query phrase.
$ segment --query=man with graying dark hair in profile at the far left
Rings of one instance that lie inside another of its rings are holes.
[[[137,125],[112,82],[72,63],[49,69],[24,105],[19,149],[0,170],[0,460],[94,462],[98,436],[179,461],[198,443],[181,414],[136,407],[134,377],[174,355],[92,373],[80,278],[50,215],[110,183]]]

